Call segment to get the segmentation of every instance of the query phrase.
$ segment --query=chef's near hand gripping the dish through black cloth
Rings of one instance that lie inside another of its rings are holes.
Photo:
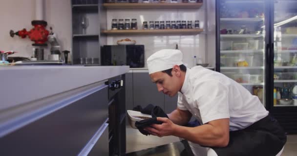
[[[162,124],[152,124],[150,127],[146,127],[144,130],[148,133],[158,136],[172,136],[176,125],[167,117],[157,117],[158,121],[162,121]]]

